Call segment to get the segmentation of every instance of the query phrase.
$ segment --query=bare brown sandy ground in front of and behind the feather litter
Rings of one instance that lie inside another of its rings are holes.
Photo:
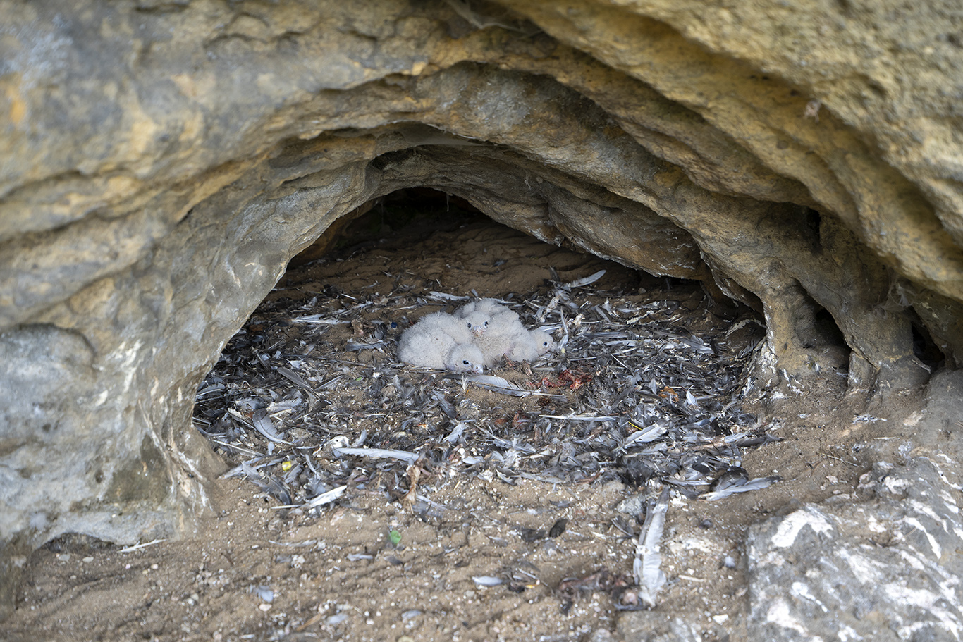
[[[387,231],[370,216],[354,229],[356,239]],[[408,232],[406,243],[358,241],[343,248],[343,261],[305,268],[314,270],[310,279],[308,272],[282,279],[273,300],[332,284],[361,293],[373,279],[387,285],[390,279],[377,273],[402,271],[422,287],[459,294],[524,295],[542,285],[550,266],[562,278],[604,267],[604,285],[630,294],[665,286],[486,218],[455,220],[433,234]],[[703,314],[699,306],[708,303],[697,285],[669,285],[672,296],[693,302],[695,317]],[[638,533],[639,525],[616,506],[640,489],[617,479],[507,483],[453,470],[421,486],[445,508],[418,514],[377,490],[352,493],[319,511],[278,510],[277,501],[247,480],[224,478],[214,489],[220,514],[194,538],[121,552],[65,537],[35,552],[0,636],[600,642],[640,639],[633,632],[639,623],[650,627],[681,614],[706,640],[741,640],[747,526],[803,502],[859,501],[860,475],[888,440],[912,429],[914,396],[876,404],[870,414],[864,398],[846,396],[845,384],[839,372],[822,372],[801,392],[757,391],[747,400],[745,410],[782,441],[746,450],[743,466],[751,476],[783,481],[716,502],[675,496],[663,540],[669,582],[651,612],[620,611],[603,590],[612,578],[632,577],[636,554],[625,528]],[[557,536],[532,536],[560,518],[567,523]],[[587,590],[591,581],[585,590],[566,590],[566,579],[603,569],[609,580],[596,581],[599,590]],[[477,578],[502,583],[485,586]]]

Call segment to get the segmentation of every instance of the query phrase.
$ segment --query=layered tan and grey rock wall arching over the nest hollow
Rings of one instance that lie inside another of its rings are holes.
[[[790,4],[0,3],[4,559],[190,529],[197,383],[405,187],[756,307],[773,372],[958,367],[953,3]]]

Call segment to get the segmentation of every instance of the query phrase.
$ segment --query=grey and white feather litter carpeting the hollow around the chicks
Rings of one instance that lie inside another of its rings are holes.
[[[316,293],[293,312],[265,302],[198,388],[195,423],[233,460],[227,475],[247,477],[276,508],[310,516],[358,492],[403,495],[412,511],[437,516],[448,508],[429,490],[461,475],[662,483],[694,498],[741,463],[743,448],[778,439],[741,410],[762,332],[745,319],[731,338],[732,322],[695,330],[667,291],[598,290],[606,273],[562,282],[553,271],[547,290],[494,299],[558,348],[507,363],[510,380],[501,371],[425,372],[394,358],[416,316],[407,311],[452,310],[470,300],[460,293]],[[716,486],[701,499],[763,483]],[[647,605],[665,581],[666,511],[656,501],[638,539],[634,568]]]

